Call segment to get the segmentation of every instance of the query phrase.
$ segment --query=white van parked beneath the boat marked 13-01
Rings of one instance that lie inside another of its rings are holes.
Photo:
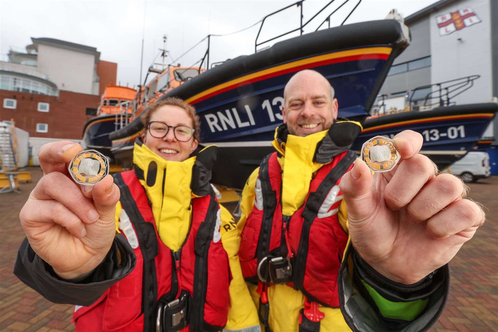
[[[467,183],[476,182],[491,175],[490,155],[488,152],[470,151],[441,172],[460,175]]]

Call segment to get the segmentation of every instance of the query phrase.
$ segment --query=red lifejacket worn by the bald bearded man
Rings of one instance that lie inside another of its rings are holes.
[[[339,182],[355,158],[356,154],[348,150],[322,166],[311,180],[303,206],[292,216],[282,215],[277,153],[263,159],[254,207],[241,234],[239,258],[247,281],[270,285],[285,282],[309,301],[339,307],[337,275],[348,241],[337,218],[342,201]],[[275,268],[270,268],[273,264],[285,269],[275,273]],[[283,276],[283,282],[275,282],[279,276]]]

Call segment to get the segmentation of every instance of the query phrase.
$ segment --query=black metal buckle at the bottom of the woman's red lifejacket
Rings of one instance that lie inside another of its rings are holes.
[[[176,332],[187,327],[187,296],[167,304],[160,303],[157,311],[156,332]]]

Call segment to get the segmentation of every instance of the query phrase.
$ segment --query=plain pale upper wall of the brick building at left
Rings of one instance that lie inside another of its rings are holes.
[[[38,45],[38,70],[60,90],[93,94],[95,56],[50,45]]]

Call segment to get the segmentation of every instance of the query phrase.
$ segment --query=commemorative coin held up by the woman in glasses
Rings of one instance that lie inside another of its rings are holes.
[[[109,161],[98,151],[85,150],[74,156],[68,170],[76,183],[95,186],[109,174]]]

